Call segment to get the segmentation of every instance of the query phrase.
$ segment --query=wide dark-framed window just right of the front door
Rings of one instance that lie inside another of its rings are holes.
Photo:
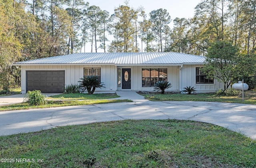
[[[142,87],[154,87],[157,81],[167,81],[167,68],[142,69]]]

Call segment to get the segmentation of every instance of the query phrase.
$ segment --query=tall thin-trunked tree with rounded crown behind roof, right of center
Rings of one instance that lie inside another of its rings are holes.
[[[169,13],[167,12],[166,9],[158,9],[158,10],[153,10],[149,13],[150,15],[150,21],[152,22],[153,25],[153,30],[158,35],[160,38],[160,46],[158,51],[163,52],[163,47],[162,47],[162,33],[164,31],[164,26],[168,25],[171,22],[171,17],[169,16]]]

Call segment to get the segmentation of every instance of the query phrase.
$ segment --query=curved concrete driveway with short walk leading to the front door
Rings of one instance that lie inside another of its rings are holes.
[[[117,94],[134,102],[1,111],[0,135],[124,119],[186,119],[220,125],[256,139],[256,105],[151,102],[136,92],[118,91]]]

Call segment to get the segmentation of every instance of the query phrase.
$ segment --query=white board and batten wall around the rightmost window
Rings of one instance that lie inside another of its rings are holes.
[[[214,79],[213,84],[197,84],[196,83],[196,67],[203,65],[183,65],[180,73],[180,90],[187,86],[195,87],[197,92],[215,92],[219,88],[223,88],[223,84]]]

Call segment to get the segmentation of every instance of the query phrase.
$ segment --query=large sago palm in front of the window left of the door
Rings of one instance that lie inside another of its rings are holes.
[[[84,92],[87,90],[88,94],[93,94],[96,88],[105,88],[99,80],[98,76],[86,76],[83,78],[80,78],[81,81],[79,88],[81,92]]]

